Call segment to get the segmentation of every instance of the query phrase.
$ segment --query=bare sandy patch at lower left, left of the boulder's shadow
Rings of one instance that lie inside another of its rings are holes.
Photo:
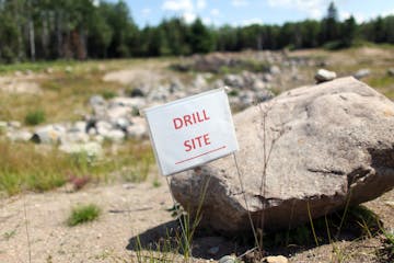
[[[166,185],[97,186],[76,193],[55,191],[0,201],[0,262],[28,262],[26,204],[32,262],[116,262],[128,259],[129,239],[173,218]],[[97,221],[68,227],[77,204],[97,204]]]

